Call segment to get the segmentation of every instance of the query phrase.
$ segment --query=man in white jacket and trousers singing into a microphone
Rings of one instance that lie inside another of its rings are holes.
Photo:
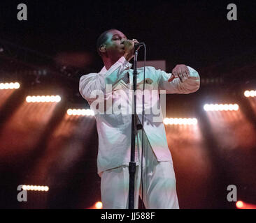
[[[101,201],[103,207],[108,209],[128,208],[131,113],[124,112],[125,109],[122,109],[122,112],[115,110],[120,106],[131,107],[129,91],[133,88],[133,70],[129,61],[134,57],[134,43],[138,41],[128,40],[121,31],[116,29],[105,31],[97,40],[97,52],[104,62],[104,68],[99,73],[80,77],[80,93],[94,110],[97,121],[99,135],[97,167],[101,177]],[[148,80],[145,84],[147,92],[165,90],[166,93],[187,94],[197,91],[200,85],[198,72],[185,65],[177,65],[171,73],[146,67],[145,79]],[[138,68],[137,83],[138,91],[142,92],[143,68]],[[101,92],[103,97],[100,95],[96,97],[95,92]],[[143,129],[141,125],[137,125],[134,208],[138,208],[138,196],[142,193],[145,208],[179,208],[176,177],[162,113],[156,115],[152,112],[152,107],[159,105],[159,94],[155,95],[154,97],[153,94],[145,94]],[[97,109],[102,107],[99,105],[101,103],[104,103],[104,112],[97,112]],[[142,97],[139,93],[136,103],[137,109],[140,110]],[[111,112],[109,112],[110,107]],[[156,116],[160,119],[155,118]],[[141,112],[137,112],[136,117],[138,123],[142,123]],[[143,153],[141,153],[142,131],[144,131]]]

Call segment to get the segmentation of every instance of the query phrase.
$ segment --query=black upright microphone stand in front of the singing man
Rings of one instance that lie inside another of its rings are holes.
[[[136,88],[137,88],[137,57],[138,47],[134,52],[134,79],[132,92],[132,114],[131,114],[131,162],[129,162],[129,209],[134,209],[134,178],[136,172],[135,157],[135,139],[137,134],[137,118],[136,118]]]

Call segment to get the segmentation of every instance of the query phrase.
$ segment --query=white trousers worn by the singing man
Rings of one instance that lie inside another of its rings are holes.
[[[138,196],[142,195],[141,184],[141,133],[136,135],[136,166],[134,184],[134,209],[138,209]],[[144,132],[143,148],[143,203],[147,209],[178,209],[176,177],[173,163],[157,161]],[[129,164],[108,169],[101,175],[101,201],[104,209],[127,209],[129,201]]]

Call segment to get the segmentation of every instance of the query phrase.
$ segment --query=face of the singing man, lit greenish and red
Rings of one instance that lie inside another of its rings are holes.
[[[125,45],[122,44],[122,40],[127,40],[127,37],[124,33],[116,29],[108,32],[107,35],[106,53],[108,54],[108,57],[119,59],[125,54]]]

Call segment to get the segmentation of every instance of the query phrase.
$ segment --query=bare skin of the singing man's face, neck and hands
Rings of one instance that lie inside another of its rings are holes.
[[[125,56],[128,62],[134,57],[134,43],[138,43],[137,40],[128,40],[125,34],[117,29],[109,31],[107,36],[108,39],[106,43],[102,44],[99,48],[101,58],[107,70],[122,56]],[[171,73],[173,75],[171,75],[171,78],[168,80],[169,82],[178,77],[184,81],[190,75],[190,71],[184,64],[176,65]]]

